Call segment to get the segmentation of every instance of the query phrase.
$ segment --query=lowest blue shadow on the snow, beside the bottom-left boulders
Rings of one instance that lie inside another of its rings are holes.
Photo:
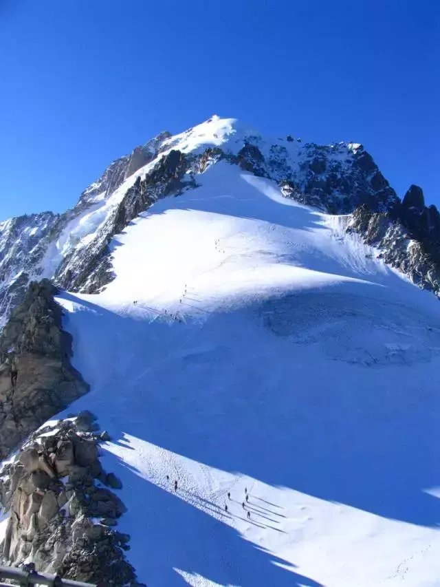
[[[221,520],[197,507],[188,507],[184,494],[164,491],[136,473],[136,469],[125,463],[118,469],[126,493],[145,496],[142,507],[146,509],[147,526],[139,528],[139,512],[130,509],[121,521],[122,524],[129,524],[131,559],[145,560],[142,578],[147,584],[181,586],[184,581],[175,571],[179,569],[201,575],[219,585],[323,587],[318,581],[298,573],[294,565],[243,540],[239,533]],[[219,513],[223,517],[223,512],[216,512],[217,515]],[[256,520],[246,520],[236,513],[232,515],[250,526],[269,532],[274,530]],[[132,520],[127,520],[128,517]],[[135,535],[135,528],[140,535]],[[203,538],[200,540],[200,537],[210,537],[208,548],[204,548]],[[154,569],[148,564],[149,561],[161,559],[164,552],[172,553],[168,566]],[[190,568],[188,560],[191,561]],[[137,571],[140,571],[138,566]]]

